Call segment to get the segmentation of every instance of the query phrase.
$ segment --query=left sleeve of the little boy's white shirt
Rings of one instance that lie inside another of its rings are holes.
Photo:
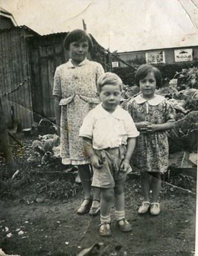
[[[88,112],[87,116],[85,116],[84,121],[82,122],[82,126],[79,130],[79,137],[87,137],[89,139],[93,138],[93,124],[94,117],[92,112]]]

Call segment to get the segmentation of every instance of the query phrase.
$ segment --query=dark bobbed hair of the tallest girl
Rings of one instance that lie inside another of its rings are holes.
[[[66,35],[64,39],[64,48],[69,50],[69,45],[72,42],[83,42],[88,40],[88,52],[93,48],[93,42],[90,35],[87,34],[84,30],[74,29]]]

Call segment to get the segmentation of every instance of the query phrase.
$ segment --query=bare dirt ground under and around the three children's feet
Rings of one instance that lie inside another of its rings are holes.
[[[27,143],[27,139],[24,141]],[[20,161],[27,159],[31,143],[32,139],[29,139],[28,150],[20,156]],[[0,168],[4,170],[3,160]],[[37,169],[38,165],[32,168]],[[1,196],[0,249],[7,255],[72,256],[93,245],[95,249],[81,255],[195,255],[195,185],[191,190],[185,190],[163,182],[161,213],[158,216],[139,215],[137,209],[142,200],[139,180],[129,177],[125,188],[126,217],[132,224],[132,231],[123,233],[118,230],[112,204],[112,235],[101,237],[98,234],[100,216],[76,213],[83,198],[80,186],[74,196],[49,199],[46,193],[38,191],[40,179],[41,176],[37,176],[23,190],[14,190],[12,186],[10,195]]]

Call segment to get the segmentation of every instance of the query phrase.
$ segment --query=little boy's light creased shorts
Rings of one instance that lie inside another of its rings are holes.
[[[99,188],[114,188],[116,181],[122,180],[127,173],[132,171],[128,168],[127,171],[120,170],[121,162],[124,160],[126,146],[121,145],[113,149],[94,150],[96,155],[101,159],[105,158],[103,167],[100,169],[93,167],[92,186]]]

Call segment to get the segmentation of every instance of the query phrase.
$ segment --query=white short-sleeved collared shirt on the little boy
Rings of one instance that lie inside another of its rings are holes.
[[[120,106],[113,113],[101,103],[88,112],[79,131],[80,137],[92,139],[93,149],[106,149],[127,144],[127,138],[139,136],[130,114]]]

